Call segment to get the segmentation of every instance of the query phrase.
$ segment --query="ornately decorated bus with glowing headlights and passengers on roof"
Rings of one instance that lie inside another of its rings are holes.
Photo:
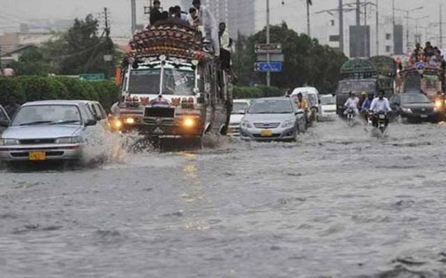
[[[169,20],[148,26],[130,41],[116,79],[115,131],[150,140],[226,134],[232,110],[229,70],[206,48],[196,28]]]

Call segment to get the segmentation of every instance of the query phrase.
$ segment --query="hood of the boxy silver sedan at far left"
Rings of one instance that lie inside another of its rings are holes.
[[[61,138],[74,136],[82,126],[69,125],[40,125],[40,126],[10,126],[1,135],[2,138],[36,139]]]

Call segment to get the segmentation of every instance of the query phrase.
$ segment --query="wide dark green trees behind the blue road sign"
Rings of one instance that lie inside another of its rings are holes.
[[[283,44],[285,55],[281,73],[271,74],[271,84],[280,88],[312,85],[321,92],[334,92],[339,81],[339,69],[347,60],[339,51],[323,46],[306,34],[298,34],[286,24],[272,26],[271,42]],[[266,28],[241,38],[236,44],[233,63],[241,85],[265,83],[266,74],[254,72],[254,45],[266,42]]]

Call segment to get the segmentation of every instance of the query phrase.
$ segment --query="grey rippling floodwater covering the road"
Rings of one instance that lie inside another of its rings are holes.
[[[446,126],[0,170],[0,277],[445,277]]]

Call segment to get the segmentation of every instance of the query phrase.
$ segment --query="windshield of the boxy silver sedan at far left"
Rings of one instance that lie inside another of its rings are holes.
[[[75,105],[35,105],[20,108],[12,125],[81,124],[81,121],[79,108]]]

